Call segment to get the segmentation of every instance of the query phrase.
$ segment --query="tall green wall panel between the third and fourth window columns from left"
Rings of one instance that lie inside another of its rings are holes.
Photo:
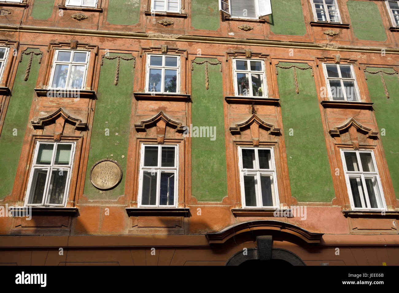
[[[331,202],[335,193],[311,70],[296,69],[299,94],[295,90],[293,68],[278,68],[278,71],[291,194],[301,202]]]

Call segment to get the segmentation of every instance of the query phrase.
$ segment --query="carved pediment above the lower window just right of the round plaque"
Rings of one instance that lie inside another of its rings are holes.
[[[143,120],[139,124],[134,125],[137,132],[147,132],[148,129],[156,127],[156,138],[158,143],[164,143],[166,126],[175,129],[175,132],[178,133],[184,133],[187,129],[181,122],[170,119],[162,111],[154,117],[148,120]]]

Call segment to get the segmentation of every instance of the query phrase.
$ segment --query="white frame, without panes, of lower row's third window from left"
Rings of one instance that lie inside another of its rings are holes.
[[[256,169],[246,169],[243,168],[243,158],[242,158],[242,150],[243,149],[255,149],[255,161],[253,165]],[[259,168],[259,156],[257,150],[270,150],[271,153],[271,169],[260,169]],[[238,147],[238,159],[239,159],[239,172],[240,172],[240,188],[241,188],[241,204],[243,208],[251,208],[251,209],[278,209],[280,206],[279,201],[279,192],[277,187],[277,174],[276,174],[276,164],[275,164],[275,155],[273,147]],[[262,190],[261,190],[261,174],[263,175],[271,175],[272,176],[272,192],[273,192],[273,206],[263,206],[260,203],[262,202]],[[256,175],[257,184],[256,184],[256,201],[257,206],[247,206],[245,203],[245,188],[244,188],[244,175]]]

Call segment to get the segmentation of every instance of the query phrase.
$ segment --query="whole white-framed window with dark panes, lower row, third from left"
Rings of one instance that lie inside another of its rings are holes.
[[[273,148],[238,147],[243,207],[279,206]]]

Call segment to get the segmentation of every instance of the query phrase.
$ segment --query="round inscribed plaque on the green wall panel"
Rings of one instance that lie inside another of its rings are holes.
[[[111,189],[117,186],[121,178],[122,169],[114,160],[100,160],[90,170],[91,183],[98,189]]]

